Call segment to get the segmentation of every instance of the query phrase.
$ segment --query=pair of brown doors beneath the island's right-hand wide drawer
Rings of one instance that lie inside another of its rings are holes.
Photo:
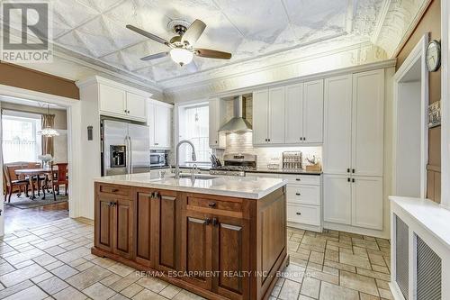
[[[230,299],[248,295],[248,276],[239,276],[249,269],[247,226],[247,220],[187,210],[182,224],[185,280]]]

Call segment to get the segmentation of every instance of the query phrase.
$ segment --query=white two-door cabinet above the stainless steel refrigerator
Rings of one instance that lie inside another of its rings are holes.
[[[94,105],[93,109],[98,107],[96,114],[147,122],[148,92],[98,76],[78,81],[76,86],[85,103]]]

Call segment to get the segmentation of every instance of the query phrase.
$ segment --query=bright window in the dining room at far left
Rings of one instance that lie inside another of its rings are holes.
[[[40,115],[5,112],[2,116],[4,162],[38,161],[41,153]]]

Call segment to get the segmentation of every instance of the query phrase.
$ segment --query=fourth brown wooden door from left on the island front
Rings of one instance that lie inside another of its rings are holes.
[[[179,269],[180,257],[180,206],[175,192],[162,192],[157,195],[157,269]]]

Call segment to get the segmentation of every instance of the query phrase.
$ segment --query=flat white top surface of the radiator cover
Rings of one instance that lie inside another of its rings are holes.
[[[390,196],[394,205],[420,223],[431,235],[434,235],[450,249],[450,210],[437,203],[420,198]]]

